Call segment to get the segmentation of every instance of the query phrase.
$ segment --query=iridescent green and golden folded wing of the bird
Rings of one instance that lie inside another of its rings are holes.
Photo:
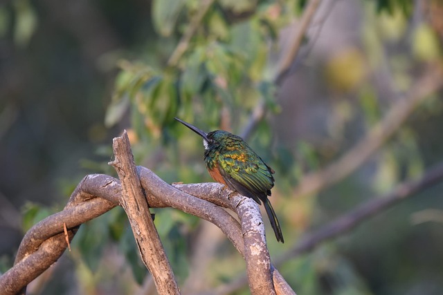
[[[251,160],[244,153],[232,151],[219,154],[219,163],[220,173],[231,189],[253,198],[259,204],[260,200],[271,195],[274,182],[272,170],[260,157],[255,156]]]

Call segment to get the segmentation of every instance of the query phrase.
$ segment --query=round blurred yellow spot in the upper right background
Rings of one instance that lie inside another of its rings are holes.
[[[325,75],[330,87],[337,91],[351,91],[366,75],[365,59],[356,48],[341,50],[327,61]]]

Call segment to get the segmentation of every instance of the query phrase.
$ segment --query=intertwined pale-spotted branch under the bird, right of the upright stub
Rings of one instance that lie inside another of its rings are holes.
[[[151,194],[152,196],[163,196],[162,201],[166,202],[168,207],[181,209],[192,215],[199,213],[198,216],[200,218],[217,225],[226,234],[237,251],[246,260],[248,282],[252,294],[273,294],[272,291],[269,292],[273,288],[275,288],[278,294],[291,294],[283,293],[285,289],[291,289],[291,287],[270,263],[266,241],[264,240],[263,222],[257,204],[255,204],[255,209],[253,209],[249,200],[244,200],[244,197],[239,196],[237,193],[233,194],[223,184],[179,184],[172,187],[145,167],[139,166],[138,173],[145,191],[149,194],[147,198],[150,200],[152,207],[160,204],[151,201]],[[206,201],[199,198],[204,198]],[[183,199],[186,200],[187,206],[185,208],[178,208]],[[240,229],[238,222],[229,213],[217,207],[216,204],[235,211],[239,219],[242,220],[242,229]],[[219,213],[215,213],[214,209],[221,209],[223,214],[226,214],[226,219],[215,220],[214,218]],[[255,218],[260,218],[260,221],[257,221]],[[226,222],[226,220],[232,220],[235,226],[226,227],[226,224],[219,223]],[[255,259],[257,261],[251,261]],[[269,264],[269,267],[266,267],[266,263]],[[273,281],[271,276],[275,277],[276,280]],[[268,285],[269,283],[271,285]]]

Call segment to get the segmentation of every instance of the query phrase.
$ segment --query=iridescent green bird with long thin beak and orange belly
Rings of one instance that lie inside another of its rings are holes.
[[[177,117],[174,119],[203,137],[204,162],[213,180],[225,184],[242,196],[252,198],[259,205],[263,202],[275,238],[283,243],[280,222],[268,198],[275,181],[273,169],[242,137],[223,130],[206,133]]]

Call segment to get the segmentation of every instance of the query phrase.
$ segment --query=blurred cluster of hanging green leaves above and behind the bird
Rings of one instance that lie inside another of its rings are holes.
[[[131,108],[137,135],[158,138],[172,128],[175,116],[219,126],[224,110],[231,114],[228,128],[235,129],[241,123],[235,118],[245,117],[260,99],[274,101],[266,61],[275,32],[287,19],[285,13],[289,14],[284,11],[293,14],[296,9],[271,1],[219,1],[195,23],[200,6],[200,1],[154,1],[153,19],[160,41],[178,41],[192,28],[195,33],[177,62],[120,62],[107,126],[119,122]],[[149,54],[161,55],[157,51]]]

